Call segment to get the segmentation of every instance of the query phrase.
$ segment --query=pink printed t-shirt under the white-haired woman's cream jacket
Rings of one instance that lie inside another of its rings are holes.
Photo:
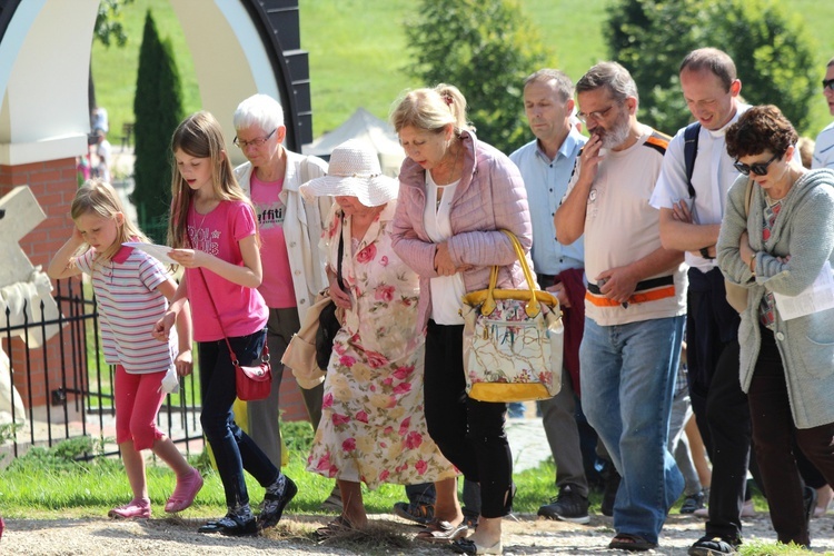
[[[292,271],[289,254],[284,239],[284,217],[287,207],[279,197],[284,179],[261,181],[252,172],[251,198],[260,229],[260,260],[264,266],[264,281],[258,291],[267,307],[288,309],[296,306],[296,291],[292,288]]]

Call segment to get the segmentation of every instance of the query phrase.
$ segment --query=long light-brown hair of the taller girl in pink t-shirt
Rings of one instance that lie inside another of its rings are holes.
[[[226,141],[217,119],[206,111],[195,112],[177,127],[171,137],[171,218],[168,222],[168,245],[173,248],[190,247],[188,241],[188,209],[195,191],[177,167],[173,155],[181,150],[195,158],[208,158],[211,165],[211,187],[221,201],[246,202],[255,214],[255,207],[238,185],[226,156]],[[260,242],[259,236],[256,238]]]

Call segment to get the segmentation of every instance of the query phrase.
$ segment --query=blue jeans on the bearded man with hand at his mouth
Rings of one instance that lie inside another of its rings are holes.
[[[579,348],[583,409],[623,477],[614,528],[652,543],[684,488],[666,446],[684,319],[586,319]]]

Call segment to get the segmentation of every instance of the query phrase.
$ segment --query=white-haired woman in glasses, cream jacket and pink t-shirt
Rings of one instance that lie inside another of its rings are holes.
[[[248,162],[235,169],[240,187],[251,198],[260,229],[264,281],[258,291],[269,307],[267,344],[272,361],[280,361],[316,295],[327,286],[325,257],[319,251],[329,197],[307,202],[301,183],[327,172],[316,157],[297,155],[281,145],[287,135],[281,106],[267,95],[238,105],[234,116],[235,145]],[[284,367],[272,366],[272,391],[247,403],[249,436],[276,465],[281,465],[278,394]],[[301,389],[314,428],[321,418],[322,386]]]

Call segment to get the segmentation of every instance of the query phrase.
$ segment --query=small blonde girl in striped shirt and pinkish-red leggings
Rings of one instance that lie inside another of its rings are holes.
[[[150,498],[141,450],[150,448],[177,475],[177,487],[166,512],[189,507],[202,487],[200,473],[182,457],[156,420],[165,399],[162,379],[170,368],[179,376],[191,373],[191,319],[177,319],[168,342],[152,336],[177,291],[162,265],[126,241],[148,238],[125,216],[119,196],[106,181],[89,180],[72,200],[72,237],[49,264],[50,278],[82,272],[92,278],[99,310],[105,360],[116,366],[116,441],[133,499],[108,514],[115,518],[150,517]],[[179,339],[178,339],[179,338]]]

